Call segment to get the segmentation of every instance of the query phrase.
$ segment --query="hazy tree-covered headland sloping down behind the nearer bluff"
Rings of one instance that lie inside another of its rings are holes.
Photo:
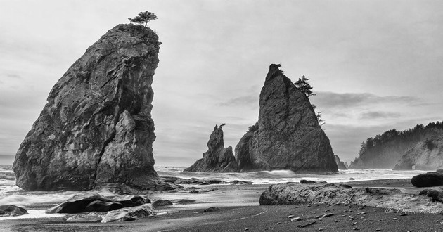
[[[386,168],[392,169],[406,150],[420,141],[438,134],[443,134],[442,122],[431,122],[426,127],[418,124],[413,129],[385,131],[375,138],[368,138],[361,143],[359,157],[349,168]]]

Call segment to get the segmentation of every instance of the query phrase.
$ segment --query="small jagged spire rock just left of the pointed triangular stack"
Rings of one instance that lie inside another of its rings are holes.
[[[236,158],[232,147],[224,147],[223,130],[215,125],[214,131],[207,141],[207,152],[184,172],[238,172]]]

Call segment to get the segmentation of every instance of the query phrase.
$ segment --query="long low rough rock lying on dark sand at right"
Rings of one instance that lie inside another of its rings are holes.
[[[279,183],[260,195],[260,205],[297,205],[304,203],[355,204],[383,207],[402,212],[443,212],[442,202],[423,195],[402,193],[397,188],[345,188],[333,183]]]

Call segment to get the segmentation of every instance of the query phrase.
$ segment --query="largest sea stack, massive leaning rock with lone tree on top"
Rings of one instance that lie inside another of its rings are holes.
[[[26,191],[87,190],[103,183],[153,188],[151,84],[158,36],[117,25],[86,50],[49,93],[13,169]]]

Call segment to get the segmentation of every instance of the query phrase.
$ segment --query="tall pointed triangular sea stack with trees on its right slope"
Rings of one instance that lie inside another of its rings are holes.
[[[337,172],[329,139],[309,99],[278,67],[269,67],[260,93],[257,127],[250,127],[236,146],[240,172]]]

